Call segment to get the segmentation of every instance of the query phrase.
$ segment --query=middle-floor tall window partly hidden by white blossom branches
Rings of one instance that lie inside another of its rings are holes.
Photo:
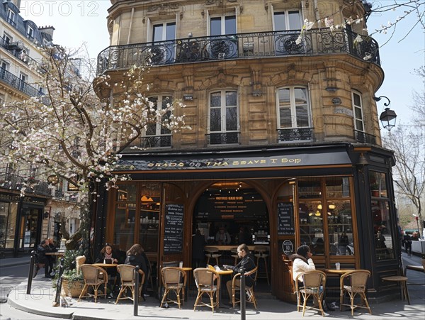
[[[164,110],[167,104],[172,103],[172,97],[151,96],[149,97],[149,101],[154,103],[155,110]],[[157,119],[156,122],[147,124],[145,137],[142,138],[142,147],[157,148],[171,146],[171,131],[162,125],[169,116],[170,114],[167,113],[162,118]]]

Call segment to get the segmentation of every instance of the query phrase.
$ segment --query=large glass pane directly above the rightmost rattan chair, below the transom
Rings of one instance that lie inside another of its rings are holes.
[[[354,254],[352,220],[349,200],[327,202],[329,253],[331,255]]]

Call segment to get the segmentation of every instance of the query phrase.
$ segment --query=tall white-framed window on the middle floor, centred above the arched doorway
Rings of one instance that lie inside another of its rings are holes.
[[[210,144],[237,143],[238,101],[234,90],[210,94]]]

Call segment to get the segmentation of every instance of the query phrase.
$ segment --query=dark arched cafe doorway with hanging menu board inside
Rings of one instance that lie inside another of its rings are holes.
[[[256,290],[271,291],[270,218],[266,202],[255,187],[249,182],[239,181],[210,184],[196,201],[192,221],[193,239],[200,231],[205,248],[219,250],[219,265],[235,265],[238,260],[234,249],[241,243],[249,245],[254,260],[259,264]],[[256,248],[260,246],[267,248],[261,258],[255,256]]]

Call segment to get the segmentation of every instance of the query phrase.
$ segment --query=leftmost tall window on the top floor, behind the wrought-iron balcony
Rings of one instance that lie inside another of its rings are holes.
[[[165,42],[176,39],[176,22],[163,22],[155,23],[152,29],[152,41],[154,48],[152,48],[152,62],[153,64],[162,64],[166,62],[173,62],[175,57],[174,42]]]

